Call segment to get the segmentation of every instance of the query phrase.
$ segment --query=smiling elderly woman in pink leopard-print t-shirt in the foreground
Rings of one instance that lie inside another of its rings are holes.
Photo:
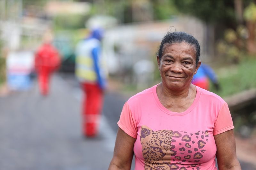
[[[200,67],[198,41],[167,33],[157,55],[162,82],[123,107],[109,170],[240,170],[227,103],[191,84]]]

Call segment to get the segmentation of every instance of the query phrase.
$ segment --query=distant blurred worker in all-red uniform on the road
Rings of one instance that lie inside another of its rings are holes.
[[[42,95],[49,92],[49,81],[52,73],[60,66],[59,52],[51,44],[52,33],[44,35],[44,43],[36,51],[35,69],[38,74],[38,84]]]

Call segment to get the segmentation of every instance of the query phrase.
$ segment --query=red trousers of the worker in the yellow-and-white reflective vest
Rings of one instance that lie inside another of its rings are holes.
[[[103,105],[103,91],[98,84],[81,83],[84,99],[82,106],[82,130],[85,136],[98,134]]]

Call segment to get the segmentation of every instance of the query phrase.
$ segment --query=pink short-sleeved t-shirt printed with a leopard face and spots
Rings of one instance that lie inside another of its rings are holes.
[[[233,129],[227,103],[196,86],[196,98],[181,113],[166,109],[156,86],[132,96],[125,104],[118,126],[134,144],[135,170],[215,170],[213,135]]]

